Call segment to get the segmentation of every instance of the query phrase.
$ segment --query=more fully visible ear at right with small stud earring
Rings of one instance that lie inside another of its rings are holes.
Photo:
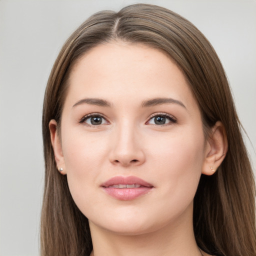
[[[202,173],[212,175],[221,164],[227,152],[226,131],[222,122],[217,121],[211,128],[211,134],[206,141]]]

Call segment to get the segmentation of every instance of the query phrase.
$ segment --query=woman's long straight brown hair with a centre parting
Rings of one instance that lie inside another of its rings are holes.
[[[41,255],[89,255],[92,243],[87,218],[75,205],[66,176],[56,170],[48,123],[60,124],[68,75],[92,47],[113,40],[143,43],[168,54],[183,71],[200,107],[205,130],[221,121],[228,151],[215,174],[202,175],[194,197],[196,242],[204,251],[224,256],[255,256],[254,179],[227,78],[202,33],[178,14],[149,4],[89,17],[67,39],[45,90],[42,133],[45,188],[41,213]]]

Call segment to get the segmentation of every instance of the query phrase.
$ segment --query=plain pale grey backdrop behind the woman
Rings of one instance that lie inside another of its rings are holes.
[[[0,0],[0,255],[39,255],[41,111],[53,61],[89,15],[134,0]],[[143,0],[193,22],[226,70],[255,171],[256,1]]]

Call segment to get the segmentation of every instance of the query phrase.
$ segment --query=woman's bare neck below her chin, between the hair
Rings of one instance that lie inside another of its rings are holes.
[[[193,234],[192,217],[169,223],[142,234],[120,234],[89,222],[91,256],[201,256]]]

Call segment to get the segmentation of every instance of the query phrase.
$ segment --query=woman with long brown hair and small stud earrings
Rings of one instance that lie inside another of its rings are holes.
[[[254,181],[221,63],[186,19],[87,19],[44,97],[42,255],[255,255]]]

